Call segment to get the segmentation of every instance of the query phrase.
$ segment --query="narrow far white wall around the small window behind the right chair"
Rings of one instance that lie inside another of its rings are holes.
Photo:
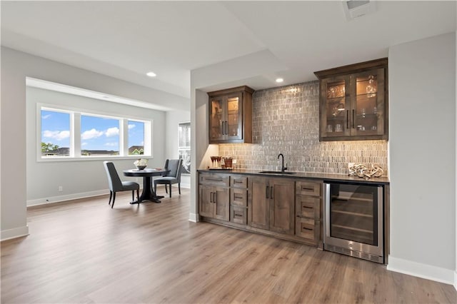
[[[166,148],[165,158],[178,158],[179,146],[179,123],[188,123],[191,121],[190,103],[187,111],[167,111],[166,117]],[[162,165],[163,166],[163,165]],[[181,175],[181,188],[191,187],[191,176],[188,174]]]

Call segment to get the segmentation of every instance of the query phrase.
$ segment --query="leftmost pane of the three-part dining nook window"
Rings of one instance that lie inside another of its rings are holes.
[[[41,156],[70,156],[70,113],[41,109]]]

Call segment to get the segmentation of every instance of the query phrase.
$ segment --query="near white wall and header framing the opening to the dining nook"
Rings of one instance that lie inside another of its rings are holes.
[[[155,103],[174,110],[189,99],[1,47],[1,240],[26,235],[26,77]]]

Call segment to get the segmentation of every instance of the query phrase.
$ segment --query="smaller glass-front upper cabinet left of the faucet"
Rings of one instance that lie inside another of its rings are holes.
[[[252,93],[248,86],[209,92],[209,143],[252,143]]]

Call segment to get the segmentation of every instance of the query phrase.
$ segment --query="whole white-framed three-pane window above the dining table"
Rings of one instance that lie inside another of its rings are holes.
[[[151,156],[152,121],[38,106],[39,159]]]

